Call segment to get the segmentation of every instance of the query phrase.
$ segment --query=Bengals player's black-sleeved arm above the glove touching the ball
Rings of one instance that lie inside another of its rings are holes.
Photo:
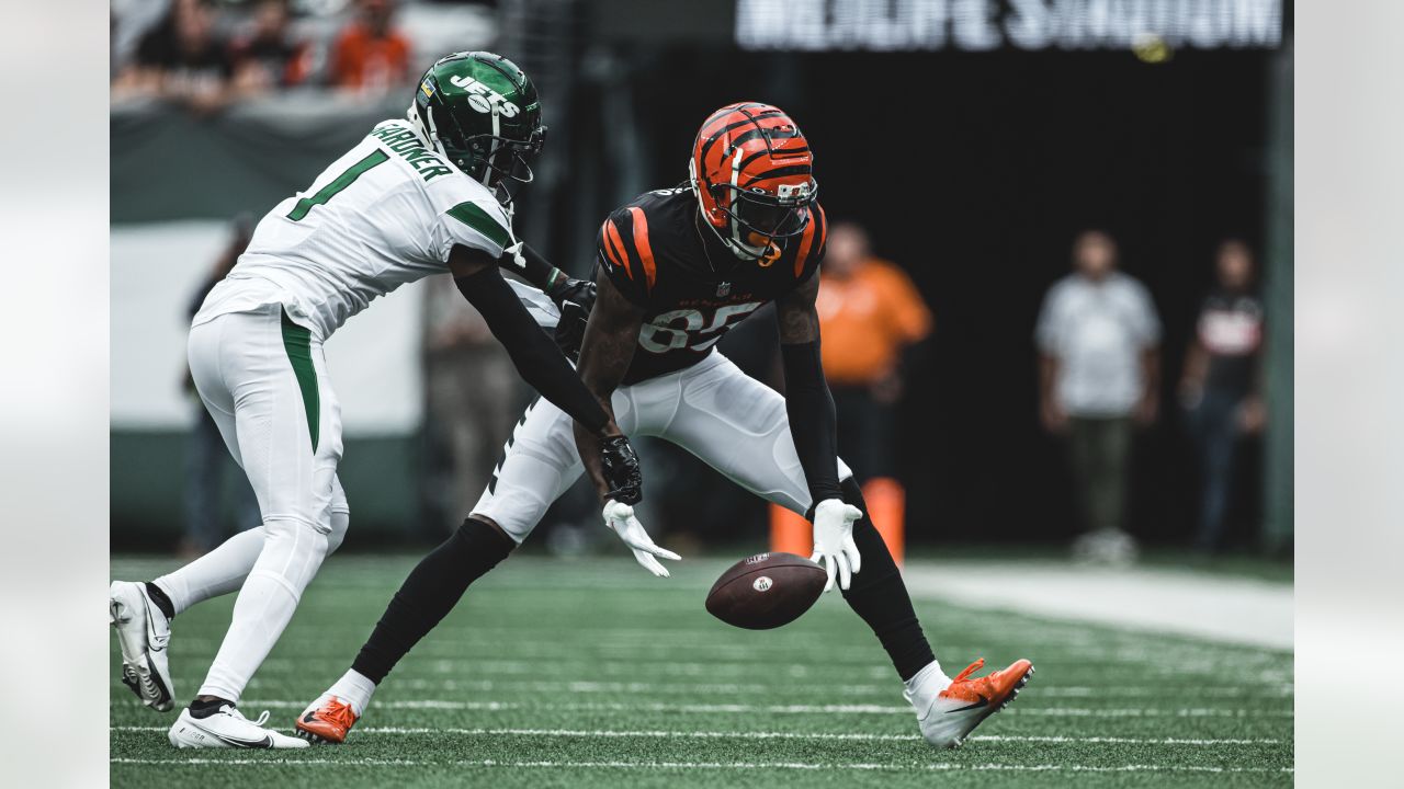
[[[819,313],[814,310],[817,296],[816,274],[775,303],[781,358],[785,362],[785,411],[804,482],[816,504],[842,498],[838,489],[838,423],[820,359]]]

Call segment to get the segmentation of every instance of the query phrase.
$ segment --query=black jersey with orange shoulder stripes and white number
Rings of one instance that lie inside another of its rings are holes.
[[[646,192],[611,213],[600,227],[597,265],[644,310],[623,383],[702,361],[733,326],[819,271],[827,230],[814,204],[803,234],[748,261],[703,225],[688,187]]]

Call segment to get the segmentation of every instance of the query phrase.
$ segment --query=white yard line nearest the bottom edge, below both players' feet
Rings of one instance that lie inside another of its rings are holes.
[[[1084,764],[953,764],[953,762],[936,762],[936,764],[922,764],[922,765],[893,765],[893,764],[868,764],[868,762],[830,762],[830,764],[809,764],[809,762],[702,762],[702,761],[497,761],[497,760],[480,760],[480,761],[413,761],[413,760],[257,760],[257,758],[168,758],[168,760],[147,760],[147,758],[124,758],[115,757],[108,760],[111,764],[140,764],[140,765],[204,765],[204,764],[219,764],[219,765],[251,765],[251,767],[302,767],[302,765],[341,765],[341,767],[507,767],[507,768],[552,768],[552,769],[859,769],[859,771],[885,771],[885,772],[907,772],[907,771],[997,771],[997,772],[1209,772],[1209,774],[1224,774],[1224,772],[1271,772],[1271,774],[1292,774],[1290,767],[1198,767],[1198,765],[1160,765],[1160,764],[1125,764],[1113,767],[1095,767]]]

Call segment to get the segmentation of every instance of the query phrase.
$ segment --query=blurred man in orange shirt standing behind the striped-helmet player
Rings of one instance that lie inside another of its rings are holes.
[[[931,310],[901,268],[873,257],[861,226],[834,223],[827,248],[816,309],[838,446],[900,560],[906,491],[897,482],[896,406],[911,354],[931,334]]]

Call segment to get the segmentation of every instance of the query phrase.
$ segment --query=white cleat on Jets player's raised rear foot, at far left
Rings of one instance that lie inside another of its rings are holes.
[[[146,706],[166,712],[176,698],[166,644],[171,623],[146,594],[146,584],[112,581],[108,590],[108,619],[122,646],[122,684]]]

